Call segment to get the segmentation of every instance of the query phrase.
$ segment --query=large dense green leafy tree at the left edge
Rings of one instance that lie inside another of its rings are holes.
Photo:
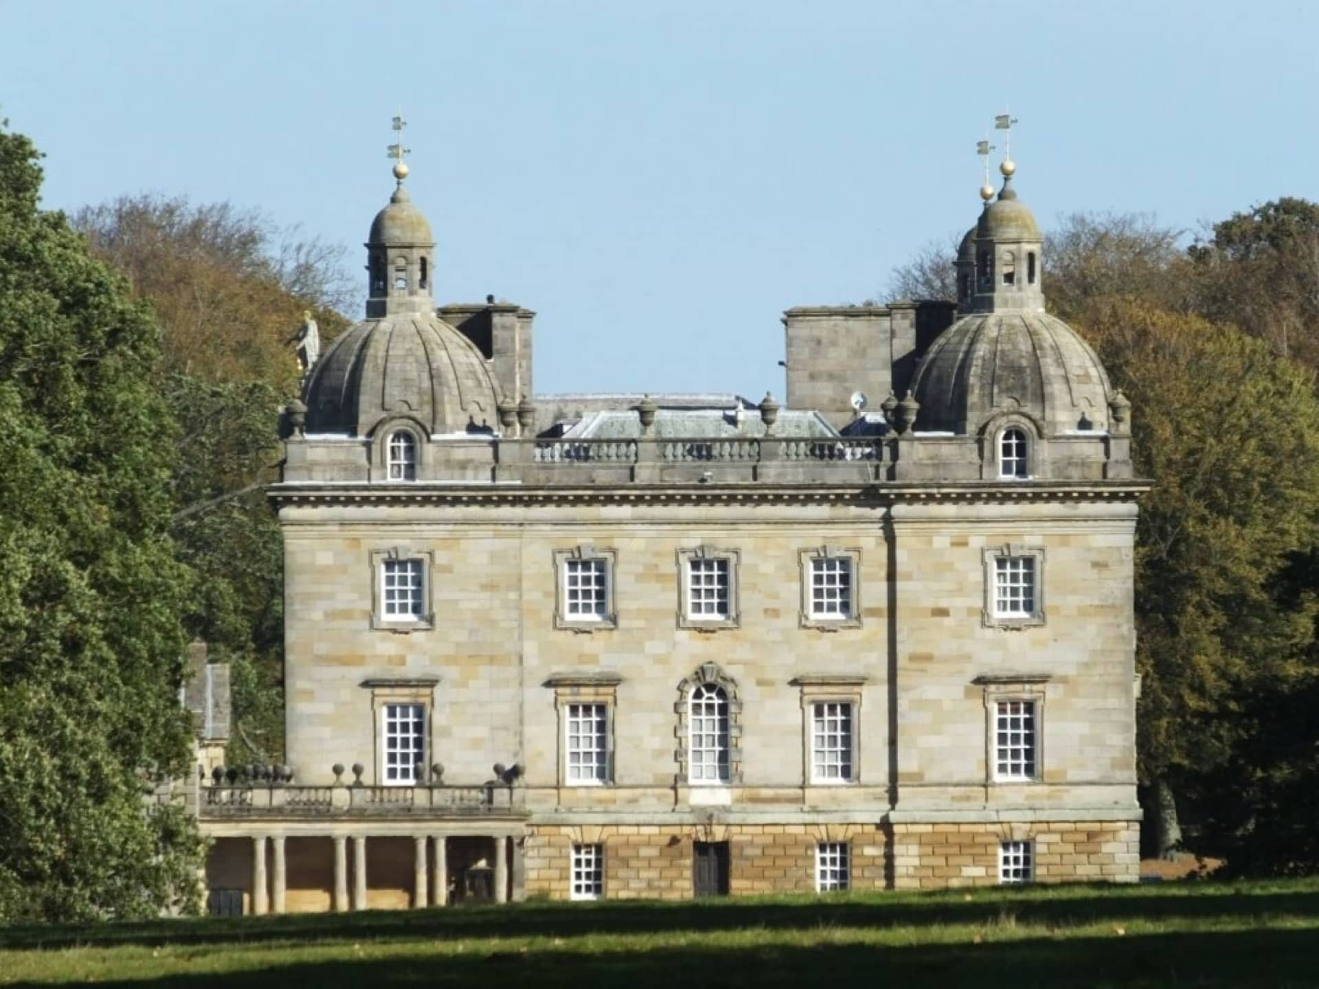
[[[195,903],[200,848],[144,804],[189,765],[174,426],[149,311],[37,161],[0,127],[0,920],[149,915]]]

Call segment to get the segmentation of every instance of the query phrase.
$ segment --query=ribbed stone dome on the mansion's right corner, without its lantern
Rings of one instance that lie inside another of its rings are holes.
[[[973,435],[997,413],[1034,417],[1046,435],[1108,427],[1113,389],[1084,340],[1047,313],[963,316],[925,355],[913,385],[917,429]]]

